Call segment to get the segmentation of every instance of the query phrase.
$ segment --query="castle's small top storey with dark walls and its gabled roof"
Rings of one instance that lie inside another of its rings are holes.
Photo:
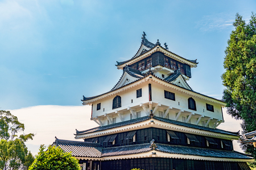
[[[159,40],[156,44],[146,39],[146,33],[143,32],[141,46],[138,52],[126,61],[117,62],[118,69],[125,69],[129,66],[135,70],[146,74],[150,69],[152,73],[160,78],[167,78],[167,76],[174,74],[177,69],[185,80],[191,78],[191,68],[197,66],[196,59],[186,59],[168,49],[168,45],[164,43],[161,46]]]

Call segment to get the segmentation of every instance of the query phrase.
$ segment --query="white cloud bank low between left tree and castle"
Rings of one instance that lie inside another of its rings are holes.
[[[75,141],[77,130],[86,130],[98,126],[90,121],[90,106],[39,105],[11,110],[25,125],[25,134],[35,133],[32,141],[26,143],[32,154],[37,154],[39,146],[51,145],[55,136],[59,139]]]

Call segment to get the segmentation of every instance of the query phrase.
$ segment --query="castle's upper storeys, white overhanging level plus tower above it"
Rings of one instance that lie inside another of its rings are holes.
[[[134,57],[117,62],[123,74],[112,90],[84,97],[83,105],[92,105],[91,120],[100,126],[134,120],[153,114],[185,124],[217,128],[224,122],[222,100],[193,91],[187,80],[196,60],[178,56],[152,44],[143,33]]]

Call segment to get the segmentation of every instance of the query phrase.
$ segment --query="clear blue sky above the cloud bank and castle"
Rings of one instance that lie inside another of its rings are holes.
[[[0,1],[0,107],[81,105],[109,91],[122,74],[115,61],[157,39],[197,59],[193,90],[221,99],[226,41],[236,12],[255,1]]]

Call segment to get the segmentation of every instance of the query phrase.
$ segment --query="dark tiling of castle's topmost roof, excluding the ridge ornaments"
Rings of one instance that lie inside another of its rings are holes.
[[[161,46],[160,43],[156,42],[156,44],[153,44],[152,42],[148,41],[147,39],[145,39],[144,41],[143,41],[143,39],[142,39],[142,44],[145,45],[145,46],[147,46],[148,48],[150,48],[150,50],[153,49],[153,48],[154,48],[155,46],[157,46],[157,45],[159,45],[161,48],[163,48],[163,46]],[[142,45],[141,45],[141,46],[142,46]],[[141,49],[141,46],[139,47],[139,49]],[[187,61],[189,61],[189,62],[198,63],[198,62],[196,62],[196,59],[195,59],[195,60],[193,60],[193,59],[186,59],[186,58],[184,58],[184,57],[181,57],[181,56],[179,56],[179,55],[177,55],[177,54],[171,52],[170,50],[168,50],[168,49],[166,49],[166,48],[163,48],[163,49],[165,49],[165,50],[167,50],[168,52],[174,54],[175,56],[178,56],[178,57],[180,57],[180,58],[183,58],[183,59],[185,59],[185,60],[187,60]],[[146,50],[146,52],[149,52],[150,50]],[[139,50],[138,50],[138,52],[139,52]],[[135,56],[138,54],[138,52],[135,54]],[[139,56],[142,56],[142,55],[143,55],[144,53],[146,53],[146,52],[142,52]],[[137,57],[135,57],[135,56],[132,57],[131,59],[126,60],[126,61],[117,62],[117,65],[115,65],[115,66],[123,65],[124,63],[127,63],[127,62],[133,60],[134,58],[138,58],[138,57],[139,57],[139,56],[137,56]]]

